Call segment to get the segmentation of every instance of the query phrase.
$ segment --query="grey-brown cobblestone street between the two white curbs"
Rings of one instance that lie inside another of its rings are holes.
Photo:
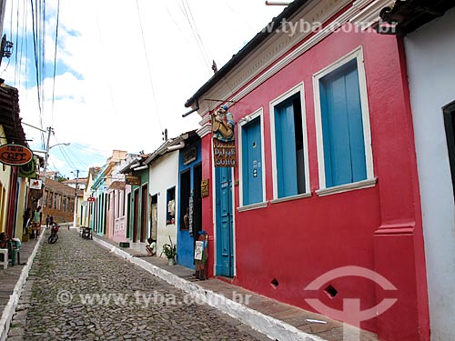
[[[74,231],[58,234],[35,257],[7,341],[269,340]]]

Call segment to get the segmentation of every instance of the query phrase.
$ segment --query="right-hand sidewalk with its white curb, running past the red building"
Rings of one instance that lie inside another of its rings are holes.
[[[94,242],[124,257],[136,266],[214,306],[229,316],[271,339],[279,341],[378,341],[378,337],[352,326],[343,326],[327,316],[308,312],[296,306],[260,296],[240,286],[231,285],[217,278],[199,281],[194,270],[185,266],[168,266],[166,258],[146,256],[145,243],[120,248],[118,243],[102,236]],[[247,298],[248,297],[248,302]]]

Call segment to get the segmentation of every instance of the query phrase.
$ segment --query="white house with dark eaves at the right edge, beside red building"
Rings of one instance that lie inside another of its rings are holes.
[[[455,3],[396,1],[382,18],[404,35],[419,170],[432,341],[455,340]]]

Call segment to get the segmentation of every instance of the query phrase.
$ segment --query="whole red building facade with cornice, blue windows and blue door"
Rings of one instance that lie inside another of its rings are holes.
[[[381,340],[429,340],[402,43],[350,23],[379,15],[368,5],[295,1],[187,101],[202,117],[209,268]],[[236,123],[232,172],[212,161],[219,105]]]

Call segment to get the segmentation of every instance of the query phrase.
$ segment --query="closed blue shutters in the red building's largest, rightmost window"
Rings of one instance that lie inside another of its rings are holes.
[[[356,61],[320,82],[326,186],[367,177],[359,75]]]

